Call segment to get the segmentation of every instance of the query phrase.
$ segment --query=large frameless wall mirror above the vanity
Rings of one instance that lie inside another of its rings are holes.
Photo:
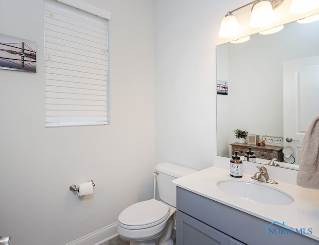
[[[217,86],[228,89],[217,94],[217,155],[231,157],[231,144],[238,142],[234,130],[242,129],[280,139],[275,147],[293,148],[280,165],[298,169],[303,134],[319,115],[319,69],[309,69],[319,66],[318,30],[319,21],[294,21],[271,35],[256,33],[247,42],[216,47]]]

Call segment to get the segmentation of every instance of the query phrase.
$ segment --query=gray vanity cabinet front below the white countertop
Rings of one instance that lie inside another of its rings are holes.
[[[267,234],[270,226],[282,234]],[[176,245],[219,244],[319,245],[319,241],[177,187]]]

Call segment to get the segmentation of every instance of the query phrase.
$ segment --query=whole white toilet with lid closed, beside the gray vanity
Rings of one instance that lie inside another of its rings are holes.
[[[130,241],[130,245],[173,245],[171,234],[172,215],[176,210],[176,186],[172,181],[196,172],[170,162],[162,162],[155,169],[154,184],[158,184],[160,201],[153,198],[133,204],[118,217],[119,236],[124,241]]]

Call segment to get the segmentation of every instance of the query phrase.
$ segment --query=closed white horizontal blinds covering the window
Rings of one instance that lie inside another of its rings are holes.
[[[56,0],[44,15],[45,126],[108,124],[108,20]]]

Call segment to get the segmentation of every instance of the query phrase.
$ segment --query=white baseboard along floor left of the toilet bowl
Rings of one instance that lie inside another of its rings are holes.
[[[66,245],[99,245],[118,235],[117,227],[118,223],[114,223],[107,227],[104,227],[98,231],[95,231],[83,238],[75,240]]]

